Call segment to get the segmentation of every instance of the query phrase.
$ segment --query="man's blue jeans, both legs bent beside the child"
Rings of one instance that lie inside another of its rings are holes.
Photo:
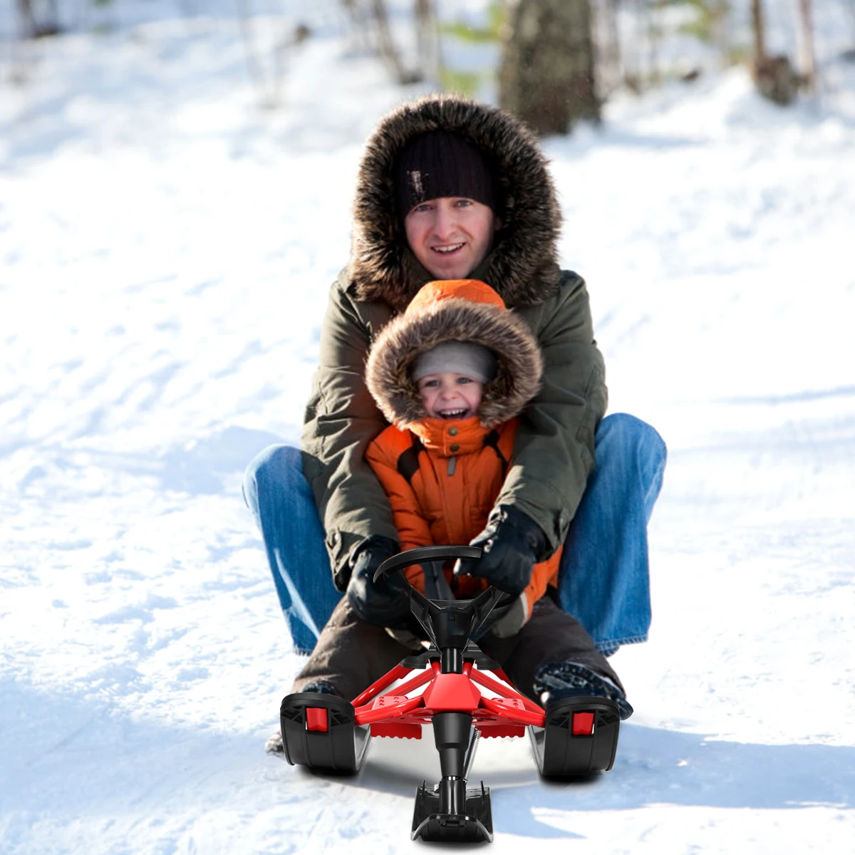
[[[634,416],[600,422],[597,467],[570,523],[558,601],[601,652],[646,641],[650,628],[647,522],[665,469],[665,444]],[[339,602],[315,496],[300,451],[270,445],[246,468],[244,498],[256,518],[295,651],[310,653]]]

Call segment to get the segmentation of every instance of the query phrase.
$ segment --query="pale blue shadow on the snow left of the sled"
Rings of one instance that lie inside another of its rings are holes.
[[[194,800],[223,806],[266,759],[252,734],[169,726],[67,688],[0,680],[3,811],[98,817]],[[25,823],[26,824],[26,823]]]

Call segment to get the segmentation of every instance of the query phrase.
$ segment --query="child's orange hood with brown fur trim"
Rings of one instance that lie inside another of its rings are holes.
[[[380,332],[369,353],[365,381],[383,415],[398,428],[428,417],[410,366],[444,341],[470,341],[496,355],[479,416],[495,428],[518,416],[540,389],[543,357],[528,324],[478,280],[442,280],[423,286],[402,315]]]

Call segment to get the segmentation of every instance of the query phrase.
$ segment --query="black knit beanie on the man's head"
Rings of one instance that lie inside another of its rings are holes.
[[[403,220],[428,199],[475,199],[499,213],[499,189],[486,158],[474,145],[445,131],[421,133],[404,146],[393,169],[395,202]]]

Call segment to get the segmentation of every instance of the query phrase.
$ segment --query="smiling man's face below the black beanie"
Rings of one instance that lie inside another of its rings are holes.
[[[457,197],[422,202],[404,219],[410,249],[436,279],[465,279],[490,251],[498,227],[492,208]]]

